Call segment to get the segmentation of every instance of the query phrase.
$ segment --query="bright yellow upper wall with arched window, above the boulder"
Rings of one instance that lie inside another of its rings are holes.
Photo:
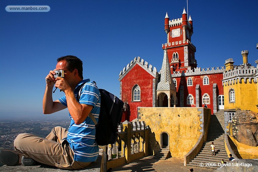
[[[235,90],[235,103],[229,103],[229,90]],[[241,109],[241,110],[251,110],[258,113],[256,108],[257,102],[257,84],[244,82],[244,79],[241,79],[241,83],[237,80],[237,84],[227,83],[223,86],[224,91],[224,109]]]

